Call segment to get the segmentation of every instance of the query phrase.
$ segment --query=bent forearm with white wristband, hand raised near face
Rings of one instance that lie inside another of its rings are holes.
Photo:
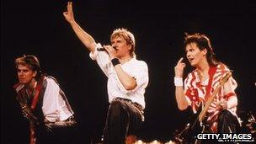
[[[177,65],[174,67],[175,97],[176,97],[176,101],[178,104],[178,108],[180,110],[187,109],[189,106],[189,103],[186,100],[185,95],[184,95],[183,79],[182,79],[183,73],[184,73],[184,67],[186,65],[182,61],[183,61],[183,57],[179,59]]]

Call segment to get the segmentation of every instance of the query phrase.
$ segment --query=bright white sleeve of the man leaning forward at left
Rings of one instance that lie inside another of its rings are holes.
[[[60,87],[51,78],[47,78],[46,82],[47,86],[45,88],[42,110],[46,120],[55,122],[60,118],[58,110],[58,95],[60,93]]]

